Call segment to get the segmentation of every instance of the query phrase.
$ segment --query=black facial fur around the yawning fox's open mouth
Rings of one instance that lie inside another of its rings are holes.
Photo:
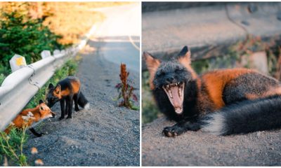
[[[178,116],[171,105],[169,98],[162,89],[163,85],[171,83],[185,83],[185,94],[183,99],[183,115]],[[185,67],[178,62],[163,62],[157,72],[155,73],[155,79],[153,80],[155,90],[152,91],[157,105],[168,118],[171,120],[182,120],[185,117],[193,116],[196,112],[196,97],[197,86],[195,80],[192,80],[191,73],[185,69]]]

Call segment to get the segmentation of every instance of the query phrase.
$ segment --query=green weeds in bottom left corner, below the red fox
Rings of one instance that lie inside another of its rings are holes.
[[[11,160],[13,164],[27,166],[27,157],[22,152],[23,145],[27,141],[27,122],[23,124],[22,129],[13,125],[8,127],[9,134],[0,132],[0,162],[4,162],[4,157]]]

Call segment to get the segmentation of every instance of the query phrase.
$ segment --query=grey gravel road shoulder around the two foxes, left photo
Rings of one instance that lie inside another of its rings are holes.
[[[41,125],[41,131],[48,134],[39,138],[32,135],[27,141],[25,153],[31,164],[41,159],[46,166],[140,165],[139,111],[117,107],[112,101],[117,97],[119,65],[105,61],[100,53],[98,49],[80,54],[83,60],[77,76],[91,109],[74,111],[72,119],[59,121],[60,105],[55,104],[53,111],[58,117]],[[139,86],[139,74],[130,71],[130,76]],[[136,93],[139,97],[139,90]],[[31,155],[32,147],[38,154]]]

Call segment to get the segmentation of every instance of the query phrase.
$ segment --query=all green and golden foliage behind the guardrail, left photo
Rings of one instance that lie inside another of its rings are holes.
[[[63,50],[105,16],[96,8],[129,2],[0,2],[0,85],[11,73],[9,60],[18,54],[27,64],[42,50]]]

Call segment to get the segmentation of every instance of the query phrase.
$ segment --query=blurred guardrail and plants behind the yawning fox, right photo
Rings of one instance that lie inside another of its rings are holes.
[[[281,3],[143,2],[142,50],[169,59],[184,45],[197,73],[246,67],[281,78]],[[162,116],[142,64],[142,123]]]

